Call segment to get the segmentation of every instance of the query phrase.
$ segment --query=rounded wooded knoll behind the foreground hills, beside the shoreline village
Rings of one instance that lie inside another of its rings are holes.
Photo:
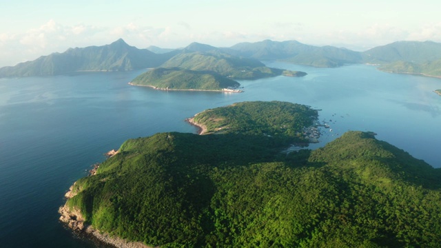
[[[313,125],[317,117],[317,110],[305,105],[255,101],[205,110],[196,114],[194,121],[207,127],[206,134],[264,135],[292,140],[301,138],[302,130]]]

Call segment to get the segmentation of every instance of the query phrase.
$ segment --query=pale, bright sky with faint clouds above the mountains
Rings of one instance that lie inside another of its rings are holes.
[[[0,67],[124,39],[147,48],[296,40],[365,51],[441,42],[441,1],[0,0]]]

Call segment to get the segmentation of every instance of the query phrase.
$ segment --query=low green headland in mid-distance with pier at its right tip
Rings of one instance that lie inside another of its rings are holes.
[[[132,80],[133,85],[147,85],[162,90],[222,90],[240,84],[214,72],[197,72],[180,68],[157,68]]]

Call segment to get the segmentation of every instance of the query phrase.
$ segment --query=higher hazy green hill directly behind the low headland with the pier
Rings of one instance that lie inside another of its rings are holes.
[[[206,49],[205,49],[206,50]],[[279,76],[283,70],[267,68],[256,59],[245,59],[214,50],[212,52],[182,52],[161,65],[163,68],[185,68],[187,70],[216,72],[232,79],[261,79]],[[305,76],[305,72],[292,72]]]

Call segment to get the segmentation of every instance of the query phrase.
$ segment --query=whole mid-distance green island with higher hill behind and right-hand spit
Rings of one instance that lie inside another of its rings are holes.
[[[147,71],[130,82],[156,90],[200,90],[241,92],[239,79],[271,76],[305,76],[305,72],[268,68],[256,59],[232,56],[218,50],[183,50],[161,67]]]

